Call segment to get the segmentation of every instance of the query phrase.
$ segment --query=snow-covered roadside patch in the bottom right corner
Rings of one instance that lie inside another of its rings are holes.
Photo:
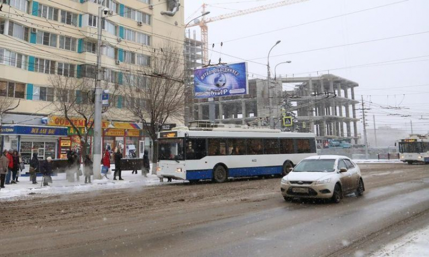
[[[429,226],[413,231],[372,252],[370,257],[429,256]]]

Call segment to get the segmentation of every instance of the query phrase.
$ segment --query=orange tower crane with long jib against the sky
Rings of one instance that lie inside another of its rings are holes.
[[[259,6],[259,7],[255,7],[255,8],[246,9],[246,10],[240,10],[240,11],[229,13],[229,14],[223,14],[223,15],[219,15],[219,16],[215,16],[215,17],[210,17],[208,19],[206,19],[203,16],[199,23],[191,24],[188,26],[188,27],[199,26],[201,28],[202,63],[203,63],[203,65],[206,65],[208,63],[208,27],[207,27],[207,23],[220,21],[220,20],[224,20],[224,19],[229,19],[229,18],[233,18],[233,17],[237,17],[237,16],[246,15],[246,14],[256,13],[256,12],[260,12],[260,11],[265,11],[265,10],[269,10],[269,9],[273,9],[273,8],[277,8],[277,7],[294,5],[294,4],[298,4],[298,3],[306,2],[306,1],[309,1],[309,0],[286,0],[286,1],[281,1],[281,2],[277,2],[277,3],[269,4],[269,5],[263,5],[263,6]],[[206,4],[202,4],[202,6],[201,6],[202,12],[201,13],[206,12],[205,11],[206,6],[207,6]]]

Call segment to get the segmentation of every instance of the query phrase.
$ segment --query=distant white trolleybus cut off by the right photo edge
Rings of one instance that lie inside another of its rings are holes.
[[[399,142],[400,160],[412,163],[429,163],[429,135],[411,135],[409,138],[401,139]]]

